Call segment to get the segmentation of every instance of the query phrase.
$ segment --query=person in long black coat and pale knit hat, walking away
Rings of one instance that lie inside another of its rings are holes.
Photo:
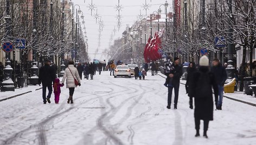
[[[199,61],[199,71],[191,77],[191,87],[189,92],[195,98],[195,129],[196,137],[200,136],[200,120],[203,120],[203,136],[208,138],[207,130],[209,121],[213,121],[213,90],[215,105],[218,102],[218,87],[215,82],[215,75],[209,70],[209,59],[202,56]],[[213,90],[212,90],[213,88]]]

